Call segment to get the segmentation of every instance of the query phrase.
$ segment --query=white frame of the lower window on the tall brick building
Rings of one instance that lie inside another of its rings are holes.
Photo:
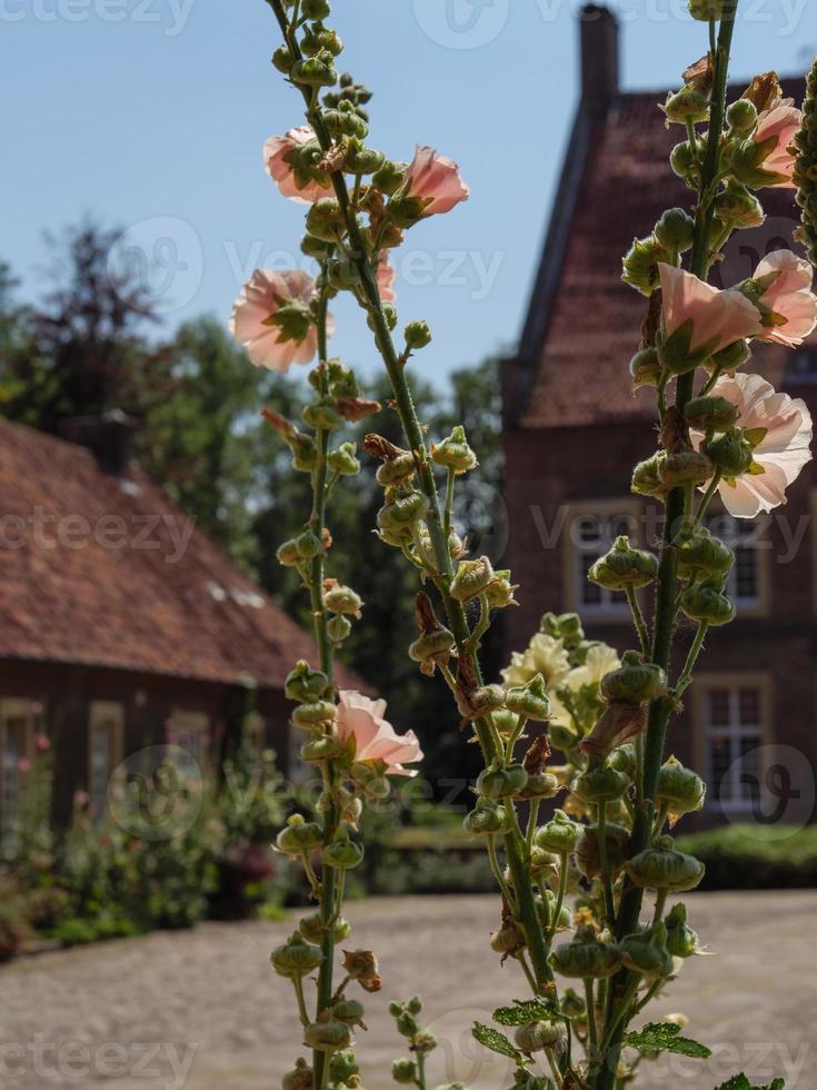
[[[706,770],[706,781],[709,784],[706,809],[715,813],[748,814],[756,805],[750,794],[740,794],[745,786],[740,783],[739,752],[740,743],[746,739],[756,742],[757,749],[768,744],[770,736],[770,681],[766,674],[706,674],[695,683],[696,720],[698,723],[699,764]],[[743,724],[740,722],[740,690],[753,690],[758,694],[760,722]],[[728,694],[728,722],[715,725],[710,717],[709,696],[713,692],[724,691]],[[729,769],[731,770],[730,797],[716,799],[711,785],[715,783],[713,745],[714,735],[728,740]],[[760,769],[761,800],[766,792],[765,767]]]

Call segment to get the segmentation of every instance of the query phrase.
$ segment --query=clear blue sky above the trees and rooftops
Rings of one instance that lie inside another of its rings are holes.
[[[685,0],[611,0],[624,85],[668,86],[706,49]],[[460,164],[471,199],[400,251],[401,319],[426,318],[426,377],[512,346],[578,87],[575,0],[337,0],[342,68],[375,91],[371,141]],[[734,70],[801,70],[814,0],[741,0]],[[41,288],[43,228],[92,212],[129,228],[113,260],[151,254],[167,328],[225,319],[256,265],[299,259],[302,210],[261,168],[265,139],[300,123],[269,63],[263,0],[0,0],[0,257]],[[341,69],[342,70],[342,69]],[[656,125],[659,125],[656,111]],[[645,230],[651,225],[645,224]],[[124,257],[123,257],[124,255]],[[335,349],[377,366],[365,323],[336,307]]]

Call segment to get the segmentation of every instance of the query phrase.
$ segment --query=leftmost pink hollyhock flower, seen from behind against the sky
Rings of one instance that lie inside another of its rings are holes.
[[[308,314],[315,281],[299,269],[256,269],[232,307],[230,333],[258,367],[286,374],[292,364],[308,364],[318,350],[318,330]],[[273,319],[292,305],[285,327]],[[329,320],[329,333],[333,321]]]

